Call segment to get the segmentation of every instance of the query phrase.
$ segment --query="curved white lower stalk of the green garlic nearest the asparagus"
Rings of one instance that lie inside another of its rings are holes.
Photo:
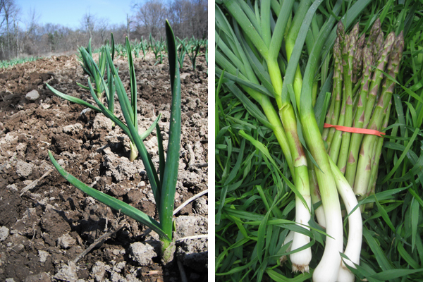
[[[338,189],[338,192],[342,197],[347,213],[350,214],[350,212],[358,204],[357,199],[355,198],[355,193],[348,181],[341,173],[341,171],[339,171],[338,166],[336,166],[336,164],[334,164],[332,160],[330,160],[330,162],[333,171],[333,176],[335,178],[336,188]],[[353,214],[350,214],[350,216],[348,216],[348,226],[348,242],[347,247],[345,247],[344,254],[350,260],[345,259],[341,262],[341,266],[338,273],[338,281],[354,282],[355,276],[347,268],[347,266],[345,266],[345,264],[348,264],[348,266],[353,268],[356,268],[354,264],[360,264],[363,228],[360,209],[355,209]]]

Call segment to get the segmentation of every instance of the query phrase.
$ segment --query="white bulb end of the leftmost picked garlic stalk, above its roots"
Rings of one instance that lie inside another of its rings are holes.
[[[307,187],[308,189],[308,187]],[[311,207],[311,199],[308,193],[301,193],[308,207]],[[304,203],[300,200],[300,197],[295,197],[295,222],[299,223],[303,228],[310,230],[308,222],[310,220],[309,208],[305,207]],[[293,244],[291,250],[297,250],[298,248],[307,245],[310,242],[310,238],[307,235],[295,232],[293,238]],[[300,252],[294,252],[290,255],[290,260],[293,263],[293,271],[309,272],[309,263],[312,260],[312,250],[307,247],[305,250]]]

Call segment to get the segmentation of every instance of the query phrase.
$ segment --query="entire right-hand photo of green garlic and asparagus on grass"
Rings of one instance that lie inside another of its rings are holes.
[[[216,2],[216,281],[422,281],[421,4]]]

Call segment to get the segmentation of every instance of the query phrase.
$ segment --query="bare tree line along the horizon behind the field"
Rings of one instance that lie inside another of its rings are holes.
[[[90,38],[97,48],[107,42],[111,32],[115,43],[125,42],[125,37],[139,42],[150,34],[161,39],[166,18],[177,37],[207,38],[207,0],[147,0],[132,6],[131,11],[121,25],[88,12],[80,19],[80,27],[71,28],[41,25],[37,11],[31,10],[24,18],[16,0],[0,0],[0,60],[75,51]]]

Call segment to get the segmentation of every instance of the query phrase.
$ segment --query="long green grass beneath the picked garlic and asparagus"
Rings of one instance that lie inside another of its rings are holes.
[[[322,6],[328,11],[326,4]],[[423,281],[421,5],[419,1],[372,1],[358,16],[360,35],[379,17],[385,35],[405,31],[405,48],[376,194],[362,201],[373,203],[373,208],[362,214],[363,243],[356,279]],[[343,2],[341,15],[347,8],[348,2]],[[321,8],[319,13],[326,17],[324,11]],[[301,61],[307,62],[305,51]],[[325,73],[332,69],[331,63]],[[219,77],[216,75],[216,81]],[[266,118],[257,105],[245,104],[248,95],[225,82],[228,80],[223,79],[216,91],[216,281],[310,281],[324,250],[324,235],[314,220],[311,231],[293,224],[295,195],[283,178],[293,180],[281,147],[264,125]],[[247,135],[263,146],[247,140]],[[344,226],[346,231],[348,224]],[[283,266],[278,264],[279,257],[286,254],[281,243],[292,229],[312,238],[310,274],[293,274],[289,260]]]

